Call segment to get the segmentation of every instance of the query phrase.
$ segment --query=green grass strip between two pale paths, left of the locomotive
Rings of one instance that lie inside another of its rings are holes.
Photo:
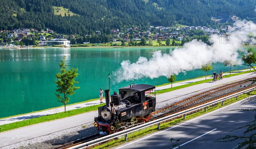
[[[15,122],[15,123],[9,123],[9,124],[5,124],[5,125],[1,125],[0,126],[0,132],[16,129],[16,128],[23,127],[23,126],[29,126],[29,125],[33,125],[33,124],[37,124],[37,123],[56,120],[56,119],[60,119],[60,118],[70,117],[70,116],[73,116],[73,115],[79,115],[79,114],[82,114],[84,112],[96,111],[96,110],[98,110],[99,106],[103,106],[103,105],[105,105],[105,104],[102,103],[102,104],[95,105],[95,106],[88,106],[88,107],[84,107],[84,108],[80,108],[80,109],[69,110],[69,111],[67,111],[67,113],[60,112],[60,113],[56,113],[56,114],[53,114],[53,115],[35,117],[35,118],[32,118],[32,119],[28,119],[28,120],[22,120],[22,121]]]

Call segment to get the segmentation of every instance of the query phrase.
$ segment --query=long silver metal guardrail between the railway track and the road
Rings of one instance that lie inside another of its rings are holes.
[[[97,145],[99,143],[103,143],[105,141],[108,141],[108,140],[111,140],[111,139],[114,139],[114,138],[118,138],[118,137],[121,137],[123,135],[125,135],[125,140],[127,140],[127,135],[131,132],[135,132],[135,131],[138,131],[140,129],[144,129],[146,127],[149,127],[149,126],[152,126],[152,125],[156,125],[158,124],[158,127],[160,126],[160,123],[166,121],[166,120],[170,120],[170,119],[173,119],[173,118],[176,118],[176,117],[180,117],[182,115],[186,115],[187,113],[190,113],[190,112],[194,112],[194,111],[197,111],[199,109],[203,109],[203,108],[206,108],[207,106],[210,106],[212,104],[216,104],[216,103],[219,103],[219,102],[222,102],[224,100],[227,100],[227,99],[230,99],[232,97],[237,97],[241,94],[244,94],[246,92],[250,92],[252,90],[256,89],[256,87],[252,87],[250,89],[246,89],[244,91],[241,91],[241,92],[237,92],[237,93],[234,93],[232,95],[229,95],[227,97],[222,97],[218,100],[214,100],[214,101],[211,101],[209,103],[205,103],[205,104],[202,104],[202,105],[199,105],[199,106],[195,106],[195,107],[192,107],[192,108],[189,108],[189,109],[186,109],[186,110],[183,110],[181,112],[177,112],[177,113],[174,113],[172,115],[169,115],[169,116],[166,116],[166,117],[162,117],[162,118],[159,118],[157,120],[154,120],[154,121],[150,121],[148,123],[145,123],[145,124],[142,124],[142,125],[139,125],[139,126],[135,126],[135,127],[132,127],[130,129],[126,129],[124,131],[121,131],[121,132],[116,132],[114,134],[111,134],[111,135],[107,135],[105,137],[102,137],[102,138],[99,138],[99,139],[95,139],[95,140],[91,140],[89,142],[86,142],[86,143],[82,143],[82,144],[79,144],[77,146],[73,146],[73,147],[70,147],[69,149],[85,149],[87,147],[90,147],[90,146],[94,146],[94,145]]]

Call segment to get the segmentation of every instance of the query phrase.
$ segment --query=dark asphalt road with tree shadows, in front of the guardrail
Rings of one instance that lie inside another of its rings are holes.
[[[241,101],[233,103],[168,129],[125,143],[115,147],[115,149],[177,149],[172,146],[177,143],[171,142],[171,138],[180,140],[178,144],[181,149],[233,149],[241,140],[225,143],[215,142],[215,140],[226,135],[243,135],[245,129],[230,131],[252,121],[255,112],[231,110],[256,108],[256,102],[253,101],[244,105],[240,103]]]

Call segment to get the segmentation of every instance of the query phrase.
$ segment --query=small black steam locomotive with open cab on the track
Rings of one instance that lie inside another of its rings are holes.
[[[105,90],[106,105],[98,108],[99,116],[93,125],[109,134],[145,123],[155,111],[155,86],[130,84],[114,92],[110,101],[109,90]]]

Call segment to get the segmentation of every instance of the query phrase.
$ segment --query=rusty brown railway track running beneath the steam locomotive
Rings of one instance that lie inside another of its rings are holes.
[[[216,100],[221,97],[225,97],[227,95],[233,94],[234,92],[240,92],[242,90],[254,87],[256,85],[252,84],[253,79],[256,79],[256,77],[246,79],[246,80],[237,81],[237,82],[230,83],[230,84],[223,85],[223,86],[219,86],[218,88],[215,88],[215,89],[212,89],[212,90],[209,90],[206,92],[202,92],[200,94],[186,98],[186,99],[179,101],[177,103],[174,103],[164,109],[161,109],[161,110],[151,113],[150,120],[156,120],[157,118],[165,117],[165,116],[171,115],[173,113],[180,112],[180,111],[198,106],[200,104],[204,104],[204,103],[210,102],[212,100]],[[99,135],[99,133],[98,133],[98,134],[91,135],[86,138],[82,138],[80,140],[76,140],[76,141],[55,147],[54,149],[67,149],[72,146],[76,146],[81,143],[88,142],[90,140],[102,138],[104,136],[106,136],[106,135]]]

